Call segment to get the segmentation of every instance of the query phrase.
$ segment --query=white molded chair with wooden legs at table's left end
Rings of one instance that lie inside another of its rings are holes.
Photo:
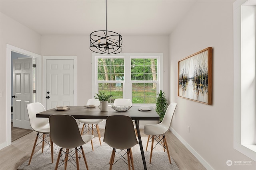
[[[30,165],[30,162],[32,160],[32,156],[34,154],[34,150],[35,150],[38,138],[42,139],[42,141],[40,141],[40,142],[42,142],[42,152],[44,151],[44,142],[51,145],[51,154],[52,154],[52,163],[53,163],[53,143],[52,143],[51,139],[50,139],[50,142],[47,141],[47,138],[50,137],[49,120],[48,120],[48,118],[38,118],[38,117],[36,117],[36,113],[40,113],[42,111],[45,111],[45,108],[41,103],[36,102],[36,103],[27,104],[27,110],[28,110],[28,117],[29,117],[29,121],[30,121],[30,126],[32,127],[32,129],[34,131],[37,132],[36,139],[35,139],[35,142],[34,142],[34,146],[33,146],[33,149],[32,149],[31,155],[30,155],[28,165]],[[42,133],[42,135],[40,135],[40,133]]]

